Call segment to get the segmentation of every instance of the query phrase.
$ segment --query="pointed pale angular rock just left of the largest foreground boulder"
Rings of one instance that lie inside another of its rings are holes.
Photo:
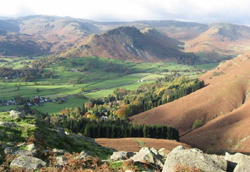
[[[162,157],[157,154],[155,154],[155,149],[143,147],[138,153],[136,153],[130,159],[133,160],[134,162],[142,162],[142,163],[147,162],[163,167],[163,161],[161,160]]]

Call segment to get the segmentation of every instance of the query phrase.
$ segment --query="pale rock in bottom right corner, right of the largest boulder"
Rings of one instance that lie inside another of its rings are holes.
[[[247,172],[250,169],[250,157],[241,153],[230,155],[226,152],[225,159],[228,161],[228,168],[234,172]]]

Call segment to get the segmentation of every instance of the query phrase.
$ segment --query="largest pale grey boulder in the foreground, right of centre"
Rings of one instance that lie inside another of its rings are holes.
[[[184,147],[178,146],[168,154],[163,172],[173,172],[177,169],[225,172],[227,162],[223,157],[204,154],[199,149],[185,150]]]

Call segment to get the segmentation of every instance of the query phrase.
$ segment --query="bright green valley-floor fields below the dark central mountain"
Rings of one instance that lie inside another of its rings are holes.
[[[35,60],[48,58],[37,57]],[[15,69],[24,66],[31,67],[32,59],[28,58],[1,58],[1,67]],[[23,82],[21,78],[8,79],[0,82],[0,100],[14,99],[16,96],[34,98],[35,96],[56,99],[67,98],[62,104],[44,103],[42,106],[33,106],[49,114],[60,113],[66,107],[82,107],[88,98],[108,96],[117,87],[133,90],[145,83],[154,82],[166,74],[178,72],[188,77],[200,75],[192,66],[175,63],[133,63],[121,60],[86,57],[63,59],[59,63],[52,63],[43,69],[44,72],[53,72],[53,77],[38,76],[32,82]],[[140,81],[140,82],[139,82]],[[75,98],[74,95],[82,92],[86,99]],[[39,90],[39,91],[37,91]],[[11,110],[16,105],[0,106],[0,111]]]

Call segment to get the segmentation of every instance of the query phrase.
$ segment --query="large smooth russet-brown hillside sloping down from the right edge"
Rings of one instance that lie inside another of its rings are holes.
[[[182,142],[206,152],[249,153],[249,66],[248,54],[228,60],[200,77],[206,87],[131,120],[175,127]]]

